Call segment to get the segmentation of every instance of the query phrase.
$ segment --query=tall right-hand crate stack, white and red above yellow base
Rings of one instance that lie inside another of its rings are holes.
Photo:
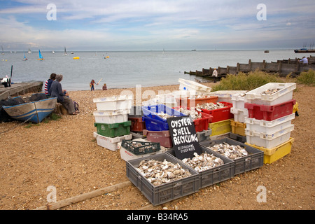
[[[290,134],[294,130],[291,122],[295,118],[295,88],[295,83],[267,83],[246,92],[246,144],[264,151],[264,163],[290,153],[294,140]]]

